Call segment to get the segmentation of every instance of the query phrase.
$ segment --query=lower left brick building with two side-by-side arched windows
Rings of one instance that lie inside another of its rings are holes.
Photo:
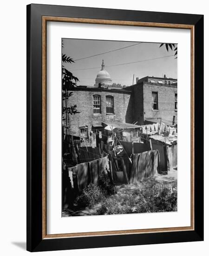
[[[71,92],[68,107],[76,104],[80,113],[69,115],[70,134],[85,139],[91,130],[102,129],[102,122],[124,123],[130,116],[129,90],[78,86]]]

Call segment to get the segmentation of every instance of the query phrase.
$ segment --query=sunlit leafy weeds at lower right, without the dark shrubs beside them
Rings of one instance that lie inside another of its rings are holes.
[[[112,195],[102,203],[97,215],[169,212],[177,210],[175,184],[136,189],[132,194]]]

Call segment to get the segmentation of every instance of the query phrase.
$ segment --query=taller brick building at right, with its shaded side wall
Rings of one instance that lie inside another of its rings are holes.
[[[140,125],[159,122],[159,119],[167,124],[177,122],[176,79],[165,75],[163,78],[146,76],[137,78],[136,84],[124,89],[132,91],[132,121]]]

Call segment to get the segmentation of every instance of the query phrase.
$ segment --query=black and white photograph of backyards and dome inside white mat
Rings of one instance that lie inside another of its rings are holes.
[[[62,217],[177,211],[177,44],[62,38]]]

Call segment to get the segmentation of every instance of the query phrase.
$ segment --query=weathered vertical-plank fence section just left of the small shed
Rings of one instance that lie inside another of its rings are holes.
[[[157,174],[159,172],[159,159],[158,150],[133,154],[130,183],[141,181]]]

